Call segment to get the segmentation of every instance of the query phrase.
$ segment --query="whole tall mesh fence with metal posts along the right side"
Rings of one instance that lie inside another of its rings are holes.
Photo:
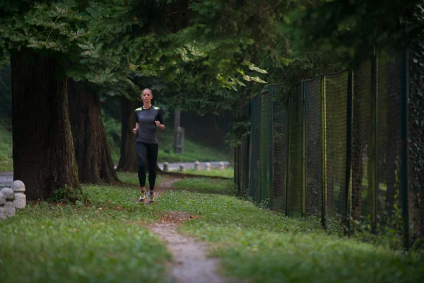
[[[324,227],[336,219],[350,232],[362,223],[402,236],[406,247],[423,237],[424,72],[416,61],[376,52],[352,71],[258,93],[250,139],[235,151],[239,187]]]

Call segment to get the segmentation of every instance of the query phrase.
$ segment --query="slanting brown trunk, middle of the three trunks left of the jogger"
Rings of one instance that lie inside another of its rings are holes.
[[[119,182],[102,122],[100,98],[87,83],[68,80],[69,112],[81,183]]]

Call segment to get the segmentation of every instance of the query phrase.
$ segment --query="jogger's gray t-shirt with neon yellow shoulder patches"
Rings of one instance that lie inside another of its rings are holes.
[[[143,107],[136,109],[136,123],[139,123],[137,141],[146,142],[147,144],[158,144],[155,121],[164,124],[162,109],[155,105],[148,109],[143,109]]]

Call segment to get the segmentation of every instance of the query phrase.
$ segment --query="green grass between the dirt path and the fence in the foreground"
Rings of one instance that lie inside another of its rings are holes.
[[[235,197],[173,191],[164,193],[157,205],[201,216],[179,230],[214,243],[213,255],[222,259],[229,277],[251,282],[424,279],[423,257],[331,235],[321,229],[319,221],[288,219]]]

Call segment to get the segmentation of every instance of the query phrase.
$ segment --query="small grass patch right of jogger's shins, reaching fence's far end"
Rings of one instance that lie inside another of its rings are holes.
[[[205,194],[235,195],[232,180],[212,180],[211,178],[187,178],[172,184],[179,190],[189,190],[191,192],[203,192]]]

